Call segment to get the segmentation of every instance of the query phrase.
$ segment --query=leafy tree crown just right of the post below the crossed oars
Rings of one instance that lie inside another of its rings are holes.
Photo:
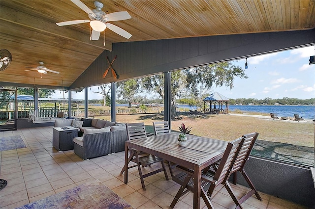
[[[137,93],[140,92],[139,78],[124,80],[116,83],[118,97],[128,102],[133,102]]]

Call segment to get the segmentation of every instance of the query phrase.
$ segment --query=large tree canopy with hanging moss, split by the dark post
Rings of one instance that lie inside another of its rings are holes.
[[[193,97],[197,105],[202,104],[202,98],[209,93],[213,85],[233,87],[235,77],[248,78],[244,70],[231,62],[188,68],[172,72],[171,75],[171,109],[172,117],[177,116],[176,99],[185,95]],[[164,99],[164,85],[162,75],[141,78],[142,88],[155,91]]]

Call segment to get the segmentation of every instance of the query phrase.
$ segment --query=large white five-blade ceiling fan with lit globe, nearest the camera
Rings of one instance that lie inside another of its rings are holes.
[[[92,27],[91,40],[98,40],[100,36],[100,32],[104,31],[106,27],[127,39],[129,39],[132,36],[123,28],[109,23],[110,21],[130,19],[131,16],[129,15],[128,12],[124,11],[124,12],[113,12],[110,14],[106,14],[105,12],[102,11],[103,4],[98,1],[94,1],[94,5],[96,8],[93,10],[91,10],[88,6],[86,6],[80,0],[71,0],[71,1],[75,3],[78,7],[80,7],[83,11],[85,11],[88,14],[90,20],[65,21],[65,22],[56,23],[58,26],[68,26],[68,25],[81,24],[81,23],[90,23],[90,26]]]

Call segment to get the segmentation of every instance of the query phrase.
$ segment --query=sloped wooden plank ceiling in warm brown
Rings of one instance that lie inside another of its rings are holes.
[[[315,27],[315,0],[99,0],[102,10],[127,11],[131,19],[112,22],[132,34],[126,39],[106,29],[90,41],[89,19],[70,0],[0,0],[0,49],[12,53],[0,82],[70,86],[112,43],[222,34],[304,30]],[[82,0],[94,9],[94,0]],[[25,67],[44,66],[60,74]],[[42,77],[42,78],[41,78]],[[1,85],[1,83],[0,83]]]

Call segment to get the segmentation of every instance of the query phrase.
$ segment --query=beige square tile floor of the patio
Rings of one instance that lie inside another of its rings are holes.
[[[27,148],[0,152],[0,179],[8,182],[0,191],[0,209],[23,206],[95,179],[137,209],[168,209],[179,189],[177,183],[166,181],[161,172],[146,178],[146,191],[142,190],[136,167],[129,169],[129,182],[125,184],[124,175],[120,175],[124,152],[86,161],[76,156],[73,150],[57,152],[52,146],[52,127],[0,132],[0,136],[11,135],[21,135]],[[241,185],[232,186],[238,195],[247,190]],[[267,194],[260,195],[262,202],[251,197],[242,206],[245,209],[305,208]],[[192,197],[192,193],[186,194],[175,208],[192,208]],[[218,209],[235,208],[225,188],[213,198],[213,205]]]

